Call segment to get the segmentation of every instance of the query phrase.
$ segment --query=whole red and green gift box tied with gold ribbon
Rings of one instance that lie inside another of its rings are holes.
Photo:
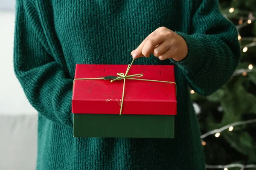
[[[173,65],[77,64],[74,137],[174,138]]]

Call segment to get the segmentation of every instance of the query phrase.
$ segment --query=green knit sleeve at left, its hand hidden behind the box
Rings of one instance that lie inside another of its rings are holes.
[[[47,26],[43,27],[29,0],[16,1],[14,70],[30,104],[52,122],[73,126],[72,85],[61,61],[56,61]],[[57,52],[55,51],[55,55]],[[62,61],[63,63],[63,61]]]

